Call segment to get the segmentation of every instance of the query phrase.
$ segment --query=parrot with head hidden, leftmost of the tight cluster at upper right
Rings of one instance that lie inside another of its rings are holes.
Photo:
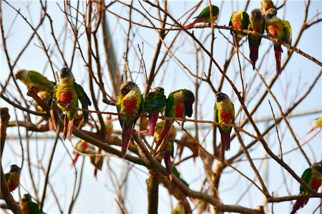
[[[234,11],[229,20],[229,27],[235,28],[237,30],[247,30],[249,23],[249,16],[246,11]],[[230,34],[233,35],[233,31],[230,31]],[[246,34],[235,33],[237,44]]]

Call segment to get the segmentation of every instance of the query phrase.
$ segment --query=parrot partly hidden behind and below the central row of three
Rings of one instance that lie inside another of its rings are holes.
[[[159,121],[156,124],[156,132],[155,132],[155,136],[154,136],[154,141],[158,142],[162,128],[164,126],[164,121]],[[161,144],[161,146],[159,147],[158,152],[162,153],[160,154],[160,156],[164,156],[163,160],[164,160],[164,164],[165,164],[165,169],[166,169],[166,173],[167,173],[167,177],[169,178],[169,180],[172,180],[172,174],[171,174],[171,157],[173,157],[173,153],[174,153],[174,146],[173,146],[173,140],[175,139],[175,137],[177,136],[177,129],[175,127],[172,126],[168,137],[165,138],[165,143]],[[157,158],[158,159],[158,158]]]

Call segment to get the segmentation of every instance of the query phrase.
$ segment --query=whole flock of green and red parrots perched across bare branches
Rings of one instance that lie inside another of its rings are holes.
[[[262,13],[263,11],[263,13]],[[250,17],[245,11],[233,12],[229,26],[235,29],[248,29],[263,34],[266,28],[268,34],[280,39],[286,43],[291,43],[291,27],[287,21],[280,20],[276,17],[277,10],[270,0],[262,0],[262,11],[254,9],[251,12]],[[213,19],[216,20],[219,14],[219,8],[212,5]],[[265,14],[265,17],[264,15]],[[210,7],[206,7],[202,12],[195,17],[195,21],[186,26],[186,28],[198,22],[211,23]],[[236,40],[245,36],[241,33],[236,33]],[[258,59],[258,48],[261,43],[261,37],[248,35],[249,47],[250,47],[250,59],[255,68],[256,60]],[[280,57],[281,57],[281,45],[274,43],[274,51],[276,58],[276,70],[280,74]],[[72,127],[74,125],[74,116],[77,110],[68,107],[78,107],[78,100],[82,104],[82,109],[88,109],[91,105],[91,101],[85,93],[82,86],[75,83],[75,78],[71,71],[64,67],[60,70],[59,84],[48,80],[45,76],[33,70],[20,69],[14,73],[16,80],[20,80],[26,86],[28,90],[32,90],[38,93],[44,101],[58,108],[65,113],[63,138],[65,139],[68,134],[69,140],[72,137]],[[230,148],[230,132],[231,127],[225,126],[225,124],[233,124],[235,118],[234,105],[230,101],[229,97],[222,92],[215,94],[215,122],[222,123],[223,126],[218,126],[220,132],[220,146],[221,146],[221,161],[224,162],[224,152]],[[54,104],[52,103],[54,100]],[[141,133],[149,134],[149,136],[155,137],[156,146],[154,148],[154,155],[160,150],[161,147],[166,148],[164,155],[164,162],[168,177],[171,179],[171,160],[173,157],[173,139],[176,136],[176,129],[173,127],[173,123],[176,118],[184,119],[185,117],[191,117],[193,113],[193,103],[195,97],[192,91],[188,89],[179,89],[171,92],[168,97],[164,95],[164,89],[162,87],[156,87],[147,94],[146,98],[140,91],[140,88],[134,83],[127,81],[123,83],[119,88],[119,94],[116,99],[116,109],[118,113],[118,120],[122,128],[121,135],[121,157],[126,156],[126,151],[129,146],[132,130],[139,119],[137,115],[140,115],[142,111],[148,115],[149,118],[149,130]],[[54,108],[52,108],[53,110]],[[52,111],[51,110],[51,111]],[[161,120],[157,123],[159,115],[164,115],[172,120]],[[51,112],[51,116],[54,117],[54,113]],[[88,122],[88,112],[83,111],[83,122]],[[48,118],[51,127],[55,127],[55,119]],[[181,123],[180,130],[183,128],[184,121]],[[77,124],[78,126],[78,124]],[[321,126],[321,125],[320,125]],[[322,126],[321,126],[322,127]],[[110,127],[109,127],[110,129]],[[112,129],[112,125],[111,125]],[[111,131],[109,131],[111,132]],[[110,134],[110,133],[109,133]],[[95,151],[95,147],[83,140],[79,141],[76,145],[76,150],[87,154],[100,154],[99,151]],[[90,151],[90,152],[88,152]],[[79,154],[76,153],[73,160],[73,164],[77,161]],[[95,176],[97,169],[102,168],[103,156],[95,157],[91,156],[91,163],[95,166]],[[172,169],[172,170],[171,170]],[[10,171],[5,174],[5,180],[8,184],[10,192],[16,189],[19,185],[21,169],[16,165],[11,165]],[[311,188],[318,191],[322,184],[322,162],[314,163],[310,168],[306,169],[301,177]],[[300,194],[293,206],[291,214],[300,208],[304,207],[310,198],[310,193],[300,186]],[[38,205],[31,201],[31,196],[25,194],[20,200],[20,206],[24,214],[40,214]]]

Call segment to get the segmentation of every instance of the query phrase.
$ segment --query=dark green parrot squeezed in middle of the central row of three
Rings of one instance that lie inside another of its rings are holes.
[[[144,100],[144,110],[149,114],[149,136],[154,135],[154,129],[156,128],[156,123],[158,121],[159,113],[163,114],[164,107],[166,105],[166,97],[164,96],[164,88],[156,87]]]

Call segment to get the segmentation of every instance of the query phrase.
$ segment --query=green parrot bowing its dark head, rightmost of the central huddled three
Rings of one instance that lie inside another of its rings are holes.
[[[191,117],[193,110],[192,105],[195,102],[195,96],[192,91],[188,89],[179,89],[169,94],[165,106],[165,117],[173,117],[173,120],[165,120],[164,126],[159,135],[154,154],[156,154],[158,147],[164,138],[168,137],[175,118],[185,119],[186,116]],[[184,122],[181,123],[180,131],[183,128]]]

